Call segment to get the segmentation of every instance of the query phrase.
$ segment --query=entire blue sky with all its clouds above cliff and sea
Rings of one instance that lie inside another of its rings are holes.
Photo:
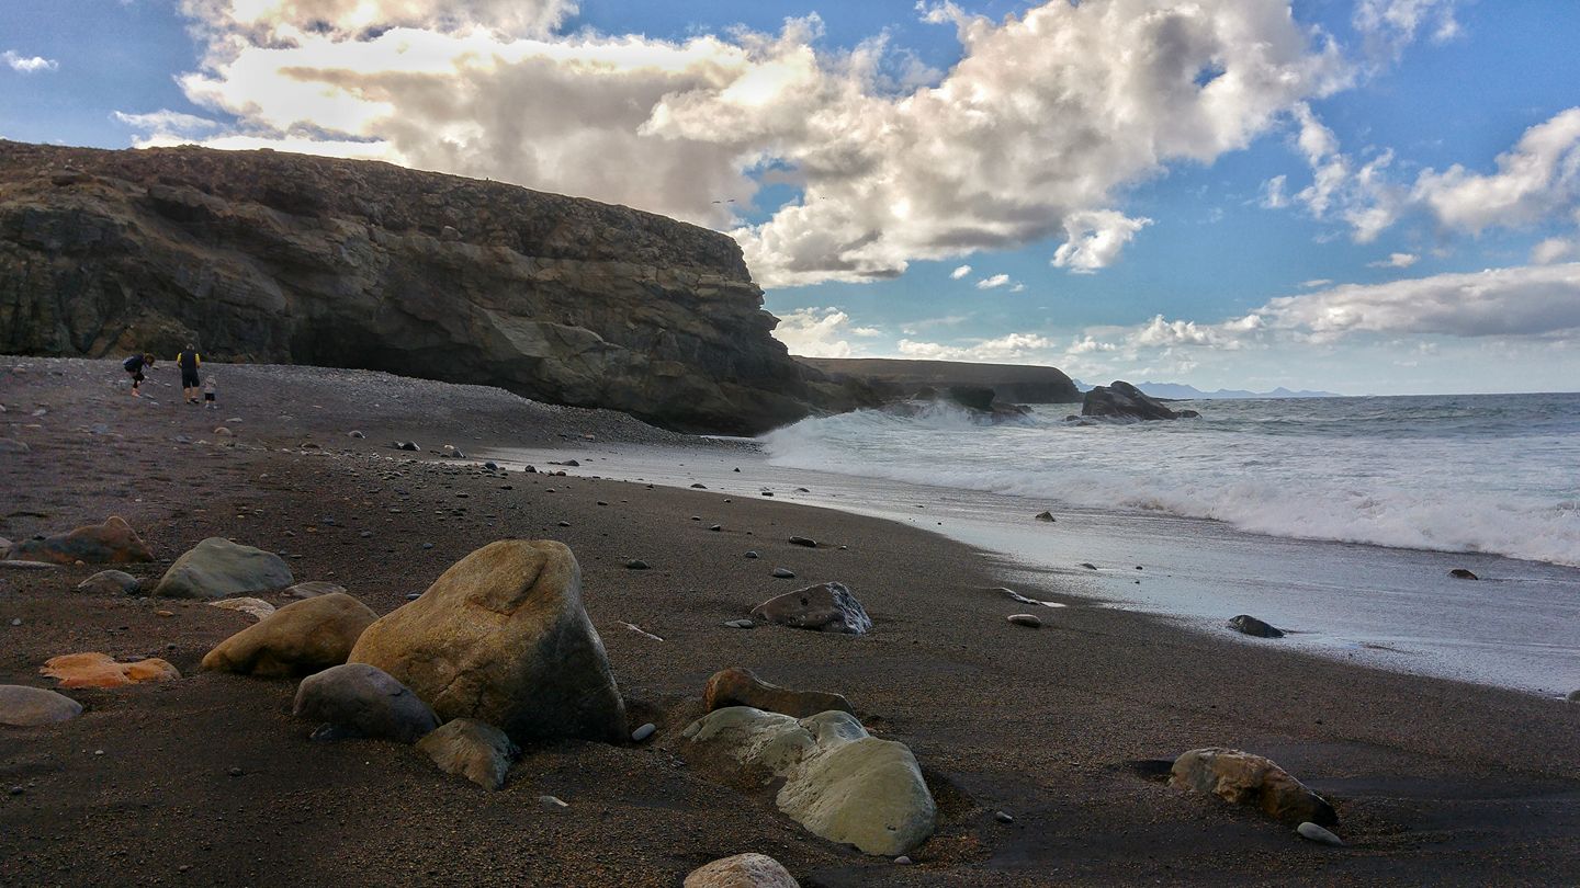
[[[1580,389],[1572,0],[0,0],[0,137],[735,237],[795,354]]]

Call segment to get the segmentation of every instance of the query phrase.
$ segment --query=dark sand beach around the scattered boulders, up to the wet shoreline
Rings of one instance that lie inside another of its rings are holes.
[[[1089,607],[1052,578],[1019,591],[1071,607],[1019,629],[1005,618],[1025,605],[992,591],[1010,566],[916,528],[434,453],[574,458],[586,436],[678,457],[738,446],[619,414],[305,367],[215,367],[220,409],[204,411],[163,365],[133,400],[115,362],[0,363],[0,438],[28,446],[0,453],[0,536],[122,515],[155,551],[128,567],[145,583],[224,536],[379,615],[480,545],[556,539],[581,564],[630,727],[657,724],[643,744],[529,747],[490,793],[406,746],[310,741],[294,681],[201,672],[246,615],[74,593],[93,566],[3,569],[0,684],[49,687],[40,665],[79,651],[164,657],[183,678],[71,690],[81,717],[0,728],[0,885],[675,886],[741,852],[801,885],[1580,882],[1575,705],[1190,632]],[[231,417],[234,435],[216,436]],[[627,570],[634,558],[651,569]],[[722,626],[825,580],[861,599],[871,635]],[[681,732],[708,676],[733,665],[844,694],[872,733],[910,746],[939,803],[910,866],[822,841],[689,762]],[[1202,746],[1288,768],[1334,803],[1348,845],[1149,776]]]

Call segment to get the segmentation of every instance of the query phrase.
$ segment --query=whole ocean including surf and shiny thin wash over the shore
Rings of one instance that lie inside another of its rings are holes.
[[[1202,416],[1076,425],[1076,404],[1043,404],[995,425],[948,406],[860,411],[744,447],[588,444],[572,472],[904,521],[975,547],[1030,597],[1240,643],[1580,689],[1580,395],[1179,406]],[[1224,627],[1239,613],[1289,635],[1239,637]]]

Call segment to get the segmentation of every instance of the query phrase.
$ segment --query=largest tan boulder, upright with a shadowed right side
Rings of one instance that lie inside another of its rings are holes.
[[[626,738],[581,567],[553,540],[493,542],[457,561],[370,626],[351,660],[390,673],[442,721],[477,719],[517,743]]]

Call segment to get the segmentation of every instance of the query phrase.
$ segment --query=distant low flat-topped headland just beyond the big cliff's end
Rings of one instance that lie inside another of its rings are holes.
[[[1063,404],[1081,400],[1076,384],[1054,367],[880,357],[796,357],[796,360],[830,376],[852,378],[872,386],[886,397],[908,397],[923,387],[988,387],[1000,401]]]

